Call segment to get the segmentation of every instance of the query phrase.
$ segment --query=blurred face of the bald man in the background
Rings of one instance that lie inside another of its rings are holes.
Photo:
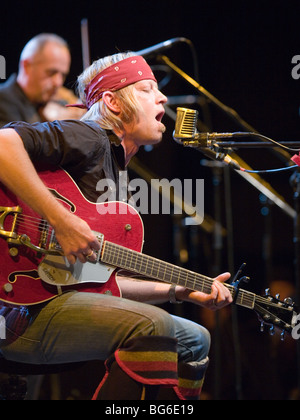
[[[26,60],[26,94],[32,102],[47,103],[64,84],[70,70],[68,49],[49,42],[41,53]]]

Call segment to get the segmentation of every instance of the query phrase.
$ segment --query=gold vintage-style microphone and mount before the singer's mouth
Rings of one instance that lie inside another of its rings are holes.
[[[211,148],[218,146],[216,142],[212,142],[216,138],[235,137],[235,134],[244,133],[199,133],[196,128],[198,114],[198,111],[194,109],[177,108],[175,130],[173,133],[174,140],[184,146],[196,146],[210,159],[225,162],[234,169],[241,170],[236,160],[225,153],[217,153]]]

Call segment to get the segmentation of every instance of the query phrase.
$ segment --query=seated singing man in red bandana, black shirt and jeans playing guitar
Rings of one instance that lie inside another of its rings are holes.
[[[81,121],[16,122],[0,131],[1,182],[53,226],[70,264],[95,260],[99,242],[84,220],[55,199],[34,165],[65,169],[96,202],[99,180],[118,185],[119,171],[140,146],[162,140],[167,102],[149,65],[133,53],[94,62],[79,77],[78,91],[87,109]],[[68,291],[26,310],[3,303],[10,335],[0,349],[6,359],[24,363],[106,361],[98,399],[196,399],[209,332],[153,304],[185,301],[220,309],[232,302],[222,284],[229,277],[218,276],[210,294],[119,276],[122,297]]]

